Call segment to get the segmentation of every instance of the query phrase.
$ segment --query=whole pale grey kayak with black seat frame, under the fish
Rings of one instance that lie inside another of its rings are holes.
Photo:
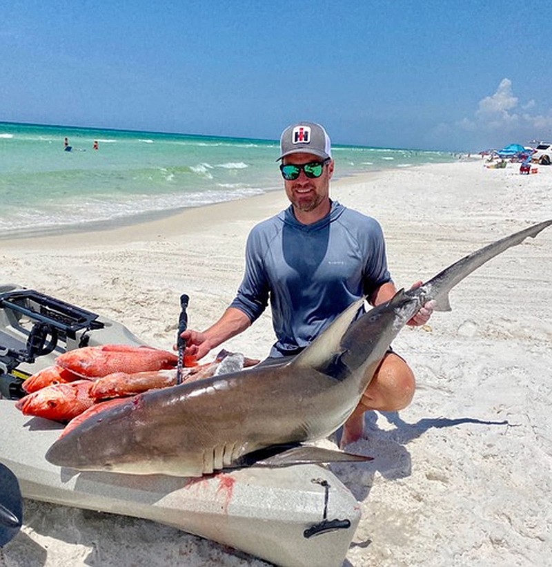
[[[108,343],[145,344],[120,323],[0,285],[0,463],[17,477],[23,497],[158,521],[276,565],[342,566],[360,507],[320,465],[253,466],[192,479],[82,472],[46,461],[63,425],[24,416],[9,394],[59,354]]]

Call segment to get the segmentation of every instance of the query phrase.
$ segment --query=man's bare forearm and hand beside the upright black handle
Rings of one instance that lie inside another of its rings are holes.
[[[251,325],[250,318],[235,307],[228,307],[221,318],[205,331],[186,329],[181,337],[186,340],[186,354],[203,358],[211,349],[245,331]]]

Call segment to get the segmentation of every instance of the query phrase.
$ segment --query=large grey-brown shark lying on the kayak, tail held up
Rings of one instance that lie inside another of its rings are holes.
[[[46,459],[77,470],[179,477],[250,464],[355,460],[337,450],[321,456],[322,448],[309,443],[343,425],[393,339],[426,302],[450,311],[455,285],[551,224],[488,244],[368,311],[359,298],[287,363],[145,392],[99,410],[57,439]]]

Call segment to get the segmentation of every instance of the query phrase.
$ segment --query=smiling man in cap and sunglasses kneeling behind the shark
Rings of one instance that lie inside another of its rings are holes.
[[[186,354],[205,356],[247,329],[270,301],[277,342],[262,364],[281,361],[299,353],[358,298],[365,295],[371,305],[379,305],[397,291],[380,224],[330,199],[334,162],[324,128],[312,122],[288,126],[280,146],[278,160],[291,204],[250,232],[235,300],[205,331],[184,331]],[[408,324],[424,325],[431,311],[430,305],[422,307]],[[366,410],[402,410],[414,389],[406,361],[388,352],[346,421],[341,446],[362,436]]]

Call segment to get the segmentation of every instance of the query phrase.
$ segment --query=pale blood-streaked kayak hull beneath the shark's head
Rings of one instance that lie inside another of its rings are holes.
[[[23,416],[8,400],[0,400],[0,423],[0,462],[26,498],[159,521],[290,567],[341,566],[360,520],[353,494],[318,465],[200,479],[78,472],[44,458],[61,425]],[[324,519],[326,490],[326,517],[342,527],[306,537]]]

